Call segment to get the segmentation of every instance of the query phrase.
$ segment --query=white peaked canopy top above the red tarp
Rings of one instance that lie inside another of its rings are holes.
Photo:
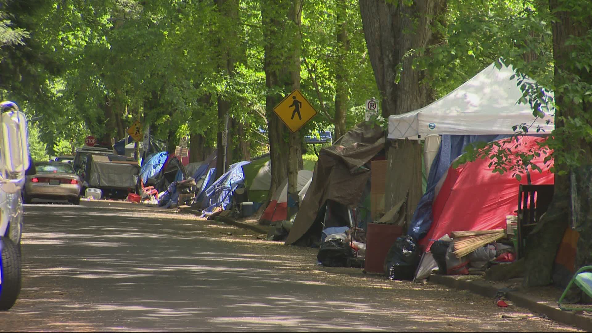
[[[492,63],[450,94],[434,103],[405,114],[388,117],[389,139],[423,139],[427,135],[502,135],[513,134],[512,126],[526,123],[535,117],[529,104],[518,104],[522,91],[511,66],[497,69]],[[530,133],[542,127],[550,134],[555,129],[546,115],[536,119]]]

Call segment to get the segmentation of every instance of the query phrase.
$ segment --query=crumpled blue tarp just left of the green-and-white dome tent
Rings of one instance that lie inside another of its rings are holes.
[[[205,213],[213,212],[215,207],[226,209],[230,205],[230,198],[234,190],[244,183],[242,166],[250,162],[242,161],[230,165],[229,170],[218,178],[210,187],[204,191],[202,207]]]

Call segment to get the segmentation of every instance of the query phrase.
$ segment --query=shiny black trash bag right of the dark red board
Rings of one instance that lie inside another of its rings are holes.
[[[389,280],[413,280],[422,257],[411,236],[400,236],[392,244],[384,260],[384,271]]]

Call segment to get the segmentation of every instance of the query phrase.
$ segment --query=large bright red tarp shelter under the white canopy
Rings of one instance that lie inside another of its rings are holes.
[[[499,140],[504,145],[503,139]],[[512,145],[513,151],[527,152],[529,149],[538,148],[538,142],[543,142],[542,137],[522,137],[518,147],[514,148],[516,141],[505,143]],[[549,171],[552,160],[543,164],[547,155],[541,154],[533,162],[542,169],[530,171],[532,184],[554,184],[554,174]],[[491,159],[477,159],[477,161],[459,165],[458,168],[448,169],[446,179],[432,204],[432,227],[427,236],[419,241],[419,244],[430,248],[433,241],[446,233],[463,230],[492,230],[506,228],[506,215],[515,214],[518,208],[518,185],[527,184],[526,175],[522,174],[522,181],[512,177],[513,172],[504,172],[500,175],[491,172],[489,167]],[[530,168],[529,168],[530,170]]]

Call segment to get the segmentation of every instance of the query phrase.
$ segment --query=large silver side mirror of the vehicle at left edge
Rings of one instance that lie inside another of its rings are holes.
[[[0,189],[16,193],[24,185],[25,171],[30,167],[27,140],[27,117],[12,102],[0,104]]]

